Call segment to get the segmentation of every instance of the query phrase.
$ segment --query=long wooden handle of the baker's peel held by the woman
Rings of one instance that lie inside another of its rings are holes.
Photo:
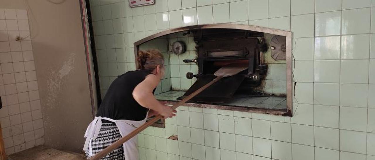
[[[189,96],[187,96],[184,99],[182,99],[181,101],[179,101],[177,104],[173,105],[172,109],[175,110],[177,107],[179,107],[180,105],[183,105],[185,102],[189,101],[194,96],[196,96],[199,93],[201,93],[204,89],[206,89],[207,87],[211,86],[211,84],[215,83],[216,81],[218,81],[218,80],[220,80],[222,78],[223,78],[223,76],[216,77],[214,80],[210,81],[210,83],[205,84],[203,87],[199,88],[195,92],[191,93]],[[148,126],[151,126],[151,124],[155,123],[156,121],[158,121],[161,118],[163,118],[163,117],[160,116],[160,114],[157,115],[153,119],[147,121],[142,126],[138,127],[137,129],[133,130],[132,132],[130,132],[128,135],[124,136],[121,139],[118,139],[116,142],[114,142],[113,144],[111,144],[110,146],[108,146],[107,148],[105,148],[104,150],[102,150],[101,152],[95,154],[93,157],[90,158],[90,160],[99,160],[99,159],[101,159],[102,157],[104,157],[105,155],[107,155],[108,153],[110,153],[112,150],[116,149],[118,146],[122,145],[123,143],[125,143],[126,141],[128,141],[130,138],[133,138],[133,136],[137,135],[139,132],[142,132],[142,130],[146,129]]]

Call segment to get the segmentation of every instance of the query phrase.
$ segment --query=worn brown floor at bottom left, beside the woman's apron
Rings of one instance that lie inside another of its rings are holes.
[[[8,156],[8,160],[86,160],[84,154],[68,153],[43,145]]]

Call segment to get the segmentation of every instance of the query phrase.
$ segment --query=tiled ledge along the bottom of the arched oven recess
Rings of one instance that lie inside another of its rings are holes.
[[[182,96],[184,93],[185,91],[171,90],[155,96],[156,99],[159,100],[177,101],[177,98]],[[287,98],[266,95],[234,95],[231,101],[218,105],[233,105],[279,110],[287,108]]]

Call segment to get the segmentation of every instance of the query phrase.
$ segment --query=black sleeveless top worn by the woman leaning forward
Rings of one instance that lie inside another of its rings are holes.
[[[114,120],[143,120],[148,108],[142,107],[135,101],[133,90],[148,74],[152,73],[147,70],[137,70],[118,76],[108,88],[96,116]]]

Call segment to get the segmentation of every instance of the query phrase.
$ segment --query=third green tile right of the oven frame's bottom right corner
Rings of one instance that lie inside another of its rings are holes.
[[[366,132],[367,109],[340,107],[340,129]]]

